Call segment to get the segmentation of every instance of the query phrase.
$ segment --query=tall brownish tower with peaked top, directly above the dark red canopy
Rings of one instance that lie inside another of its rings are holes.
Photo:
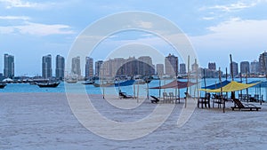
[[[166,75],[176,76],[178,75],[178,57],[169,54],[165,58],[165,73]]]

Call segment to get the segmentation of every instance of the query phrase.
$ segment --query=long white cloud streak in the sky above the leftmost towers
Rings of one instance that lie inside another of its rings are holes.
[[[0,27],[1,34],[28,34],[33,36],[69,35],[75,32],[67,25],[46,25],[40,23],[26,22],[21,26]]]

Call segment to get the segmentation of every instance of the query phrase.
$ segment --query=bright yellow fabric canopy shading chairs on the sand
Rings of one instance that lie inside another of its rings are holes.
[[[258,83],[261,83],[261,82],[258,82]],[[247,89],[252,86],[255,86],[258,83],[246,84],[246,83],[237,83],[237,82],[232,81],[231,83],[222,87],[222,92],[241,91],[243,89]],[[221,92],[221,88],[208,90],[207,92]]]

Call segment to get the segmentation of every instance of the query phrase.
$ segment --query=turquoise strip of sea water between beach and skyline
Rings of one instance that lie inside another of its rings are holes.
[[[186,82],[186,79],[179,79],[182,82]],[[225,79],[222,79],[224,81]],[[231,79],[228,79],[231,81]],[[237,82],[240,82],[240,78],[235,78],[234,79]],[[200,82],[199,82],[200,81]],[[151,81],[148,85],[147,84],[134,84],[131,86],[121,86],[121,87],[105,87],[105,88],[100,88],[100,87],[94,87],[93,84],[82,84],[82,83],[64,83],[61,82],[61,84],[56,87],[56,88],[39,88],[37,85],[30,85],[28,83],[8,83],[4,89],[0,89],[0,92],[66,92],[65,85],[68,85],[68,92],[73,92],[73,93],[80,93],[80,92],[86,92],[88,94],[110,94],[110,95],[118,95],[118,91],[123,91],[127,95],[133,95],[133,96],[144,96],[147,97],[148,95],[154,95],[157,97],[162,97],[163,92],[174,92],[174,95],[176,94],[177,96],[180,95],[181,98],[183,98],[184,92],[189,91],[192,95],[194,96],[204,96],[204,91],[198,91],[201,87],[205,86],[205,81],[199,80],[199,84],[196,86],[192,86],[188,89],[180,89],[180,90],[175,90],[175,89],[149,89],[151,87],[158,87],[159,85],[164,85],[166,83],[172,82],[172,80],[153,80]],[[243,78],[242,83],[246,83],[246,79]],[[252,82],[252,81],[266,81],[263,78],[248,78],[247,83]],[[196,82],[192,80],[191,82]],[[214,84],[214,83],[219,83],[219,80],[217,78],[209,78],[206,79],[206,86]],[[236,95],[239,93],[246,94],[247,91],[237,91]],[[256,93],[257,92],[257,93]],[[267,99],[266,98],[266,89],[262,88],[261,90],[255,89],[255,88],[249,88],[248,89],[248,94],[251,94],[254,96],[256,94],[263,95],[263,100]],[[228,93],[230,94],[230,93]],[[237,97],[237,96],[236,96]]]

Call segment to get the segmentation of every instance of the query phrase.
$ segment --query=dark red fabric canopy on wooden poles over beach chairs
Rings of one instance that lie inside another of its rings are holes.
[[[169,88],[174,88],[174,89],[183,89],[186,88],[188,86],[192,86],[195,85],[197,83],[191,83],[191,82],[180,82],[180,81],[176,81],[174,80],[171,83],[167,83],[165,85],[162,86],[157,86],[157,87],[151,87],[150,89],[169,89]]]

